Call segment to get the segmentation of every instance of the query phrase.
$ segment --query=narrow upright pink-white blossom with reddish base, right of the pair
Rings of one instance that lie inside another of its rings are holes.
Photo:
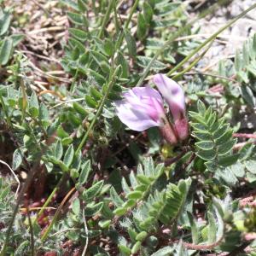
[[[189,135],[189,123],[182,87],[161,73],[154,75],[154,84],[169,105],[177,137],[184,140]]]

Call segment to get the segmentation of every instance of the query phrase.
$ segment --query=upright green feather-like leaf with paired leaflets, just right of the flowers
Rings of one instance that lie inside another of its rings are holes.
[[[197,103],[198,113],[189,112],[193,127],[193,137],[196,154],[205,160],[207,169],[214,172],[218,166],[226,165],[230,160],[230,151],[236,144],[232,137],[230,125],[225,124],[224,118],[218,118],[212,108],[206,108],[203,102]]]

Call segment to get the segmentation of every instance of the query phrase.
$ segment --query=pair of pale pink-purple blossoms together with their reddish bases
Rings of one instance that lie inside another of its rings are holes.
[[[163,74],[156,74],[154,83],[169,105],[173,123],[166,116],[160,93],[150,87],[137,87],[125,92],[123,100],[114,102],[117,115],[134,131],[159,126],[166,141],[176,144],[178,140],[188,137],[189,130],[183,89]]]

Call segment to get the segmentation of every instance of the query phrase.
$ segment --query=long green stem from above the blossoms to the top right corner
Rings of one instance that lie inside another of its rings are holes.
[[[183,59],[183,61],[180,61],[176,67],[173,67],[171,71],[169,71],[166,75],[170,76],[172,73],[174,73],[175,71],[177,71],[177,69],[179,69],[180,67],[183,66],[184,63],[186,63],[187,61],[189,61],[197,52],[199,52],[202,48],[204,48],[207,44],[209,44],[210,42],[212,42],[213,40],[215,40],[215,38],[217,38],[218,34],[220,34],[221,32],[224,32],[225,29],[227,29],[229,26],[233,25],[236,20],[241,19],[241,17],[243,17],[244,15],[246,15],[249,11],[251,11],[252,9],[254,9],[256,7],[256,3],[253,4],[250,8],[244,10],[240,15],[237,15],[236,18],[234,18],[233,20],[230,20],[230,22],[228,22],[226,25],[224,25],[223,27],[221,27],[220,29],[218,29],[217,32],[215,32],[214,34],[212,34],[212,36],[210,38],[207,38],[207,40],[205,40],[205,42],[203,42],[202,44],[200,44],[196,49],[194,49],[187,57],[185,57]]]

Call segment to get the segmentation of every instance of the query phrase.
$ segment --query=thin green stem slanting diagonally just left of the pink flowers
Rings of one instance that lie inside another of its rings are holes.
[[[79,151],[83,148],[84,143],[86,142],[87,138],[90,135],[90,131],[93,129],[94,125],[96,124],[96,119],[98,119],[98,117],[102,113],[102,108],[103,108],[103,106],[104,106],[104,104],[105,104],[105,102],[108,98],[108,94],[109,94],[110,90],[112,89],[113,82],[115,81],[115,76],[116,76],[116,73],[118,71],[119,71],[119,67],[116,67],[112,76],[110,76],[110,79],[109,79],[109,82],[108,82],[108,85],[107,85],[107,91],[106,91],[105,95],[102,97],[102,101],[100,102],[100,105],[99,105],[99,108],[96,112],[96,115],[95,115],[94,119],[91,121],[88,130],[85,132],[84,137],[83,137],[81,143],[79,144],[79,147],[77,148],[75,154],[79,154]]]

